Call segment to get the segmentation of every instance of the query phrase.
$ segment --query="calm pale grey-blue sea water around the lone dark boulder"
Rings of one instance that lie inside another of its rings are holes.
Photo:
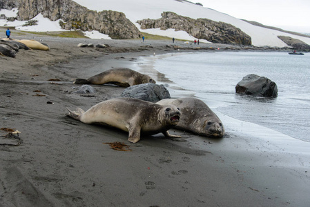
[[[157,82],[168,83],[173,97],[195,96],[234,119],[310,141],[309,54],[196,52],[150,57],[144,61],[162,73],[157,75]],[[249,74],[275,81],[278,97],[235,94],[235,85]]]

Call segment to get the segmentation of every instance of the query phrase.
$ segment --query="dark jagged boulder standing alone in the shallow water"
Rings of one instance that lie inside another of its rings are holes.
[[[278,87],[267,77],[250,74],[235,86],[235,92],[256,97],[278,97]]]

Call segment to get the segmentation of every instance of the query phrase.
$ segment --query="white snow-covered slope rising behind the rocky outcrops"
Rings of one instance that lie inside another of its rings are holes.
[[[175,37],[178,39],[188,39],[192,40],[193,37],[188,35],[186,32],[175,32],[174,30],[141,30],[139,24],[136,23],[137,20],[141,19],[159,19],[162,12],[171,11],[185,17],[191,17],[193,19],[206,18],[213,21],[223,21],[226,23],[231,23],[233,26],[240,28],[246,34],[249,34],[252,38],[253,46],[287,46],[286,43],[278,39],[278,35],[289,36],[294,39],[300,39],[305,43],[310,44],[310,38],[300,37],[297,35],[280,32],[277,30],[271,30],[267,28],[262,28],[258,26],[253,26],[250,23],[246,23],[240,19],[236,19],[227,14],[217,12],[215,10],[204,8],[202,6],[195,5],[193,3],[188,3],[186,1],[176,1],[176,0],[73,0],[79,3],[81,6],[85,6],[90,10],[115,10],[119,12],[124,12],[126,17],[130,19],[140,31],[159,34],[167,37]],[[2,10],[0,11],[0,13]],[[37,17],[39,18],[39,17]],[[40,21],[39,21],[39,24]],[[45,25],[47,25],[45,23]],[[0,21],[1,26],[1,21]],[[26,28],[18,28],[20,30],[26,30]],[[48,29],[46,29],[48,30]],[[60,29],[59,29],[60,30]],[[50,31],[50,30],[49,30]],[[104,37],[103,37],[104,38]]]

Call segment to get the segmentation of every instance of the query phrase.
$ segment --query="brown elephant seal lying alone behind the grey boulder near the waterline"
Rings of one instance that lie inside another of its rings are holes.
[[[95,85],[112,83],[117,86],[129,87],[142,83],[156,83],[156,81],[148,75],[144,75],[129,68],[113,68],[88,79],[76,79],[74,83]]]

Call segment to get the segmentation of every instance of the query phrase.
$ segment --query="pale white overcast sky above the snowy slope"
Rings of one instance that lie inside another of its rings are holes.
[[[238,19],[310,33],[310,0],[192,0]]]

